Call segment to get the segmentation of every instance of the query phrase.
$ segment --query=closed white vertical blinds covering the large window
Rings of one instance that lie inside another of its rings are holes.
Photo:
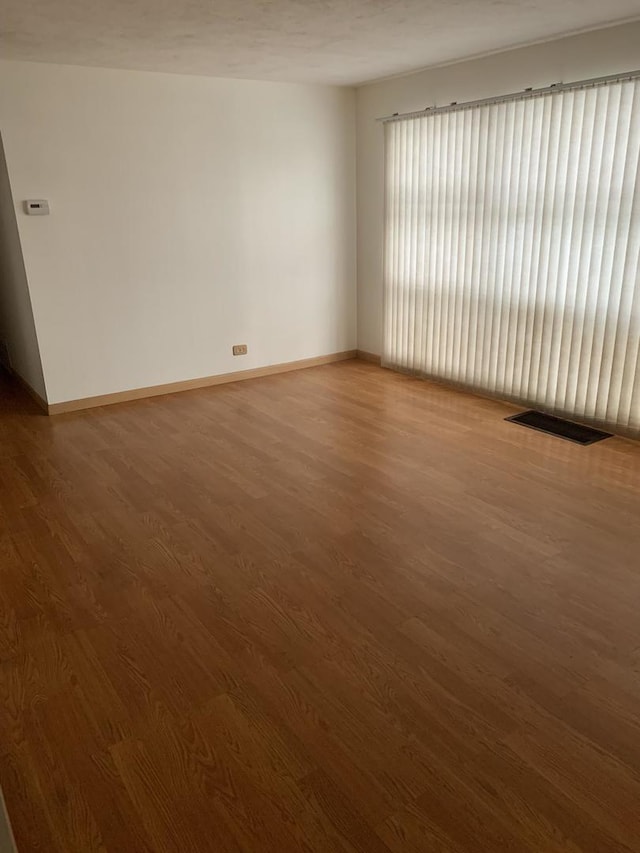
[[[640,82],[385,123],[383,363],[640,434]]]

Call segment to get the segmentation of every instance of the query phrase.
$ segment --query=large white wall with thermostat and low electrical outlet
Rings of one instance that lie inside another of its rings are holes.
[[[355,348],[354,100],[0,62],[49,402]]]

